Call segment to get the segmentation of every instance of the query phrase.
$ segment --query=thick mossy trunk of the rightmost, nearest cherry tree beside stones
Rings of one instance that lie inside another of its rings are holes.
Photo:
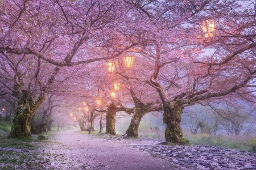
[[[180,144],[188,143],[188,141],[183,138],[183,133],[180,127],[182,111],[183,108],[177,104],[177,101],[164,107],[163,121],[166,124],[166,142]]]

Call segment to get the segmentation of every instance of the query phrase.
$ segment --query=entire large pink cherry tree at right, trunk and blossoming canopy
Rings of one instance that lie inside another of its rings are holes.
[[[155,23],[144,37],[145,43],[135,48],[139,55],[154,61],[154,72],[148,79],[148,73],[133,78],[158,91],[167,142],[186,142],[180,115],[189,105],[223,98],[255,101],[254,90],[249,88],[254,87],[256,73],[255,22],[251,22],[255,20],[251,17],[255,15],[254,6],[243,10],[234,1],[172,1],[162,8],[153,2],[129,3],[144,20]],[[216,32],[205,36],[200,24],[212,18],[217,23]],[[212,54],[203,54],[205,49]]]

